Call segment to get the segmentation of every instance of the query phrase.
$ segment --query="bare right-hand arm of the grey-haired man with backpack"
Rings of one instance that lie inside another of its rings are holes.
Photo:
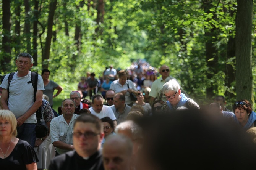
[[[18,126],[21,126],[32,114],[34,114],[37,109],[42,105],[42,100],[43,100],[43,91],[42,90],[37,90],[36,91],[36,101],[34,104],[28,109],[28,111],[19,117],[17,119],[18,121]]]

